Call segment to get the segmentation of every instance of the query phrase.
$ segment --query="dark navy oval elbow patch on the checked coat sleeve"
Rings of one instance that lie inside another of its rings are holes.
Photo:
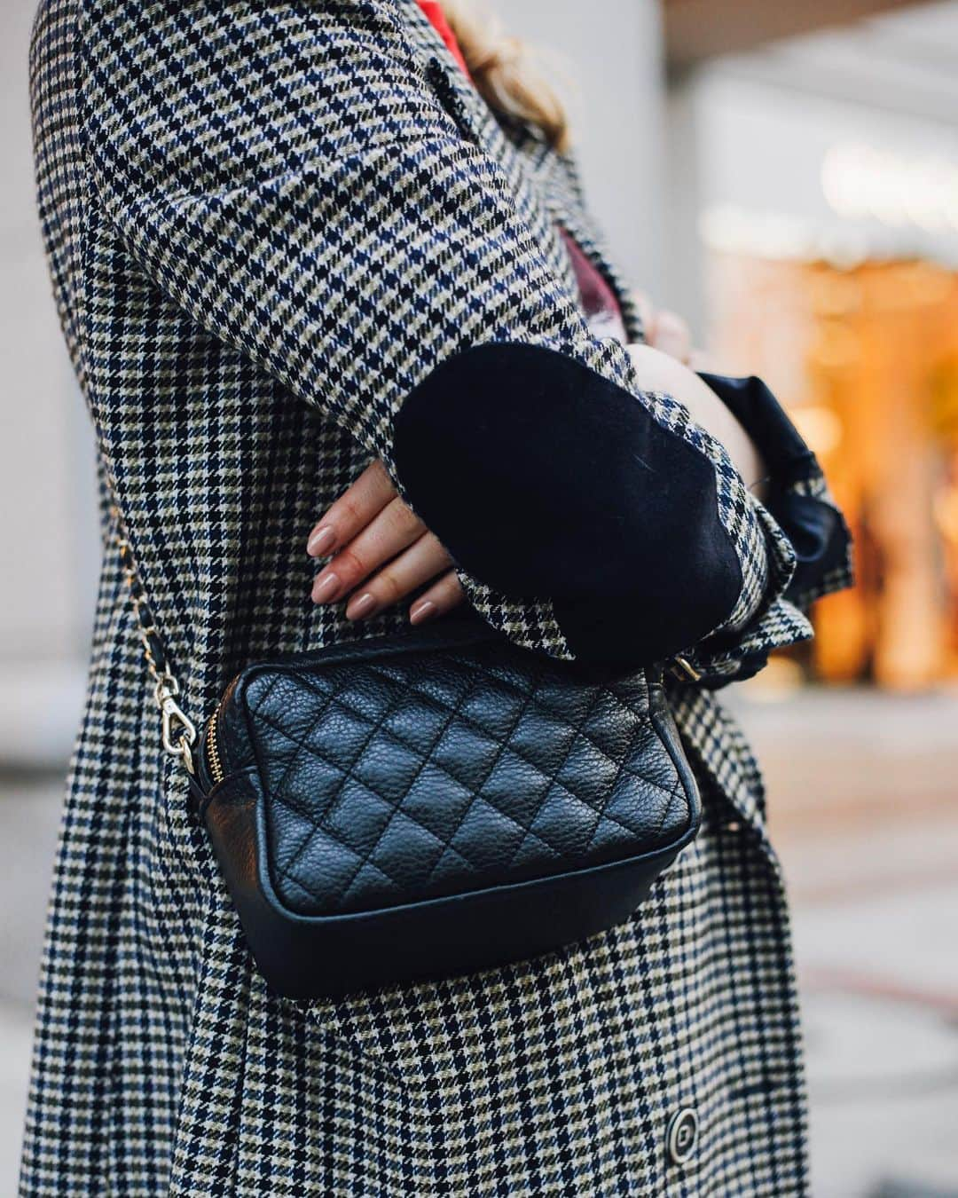
[[[456,562],[508,595],[552,597],[577,657],[668,657],[738,600],[711,462],[554,350],[495,343],[448,358],[400,409],[394,459]]]

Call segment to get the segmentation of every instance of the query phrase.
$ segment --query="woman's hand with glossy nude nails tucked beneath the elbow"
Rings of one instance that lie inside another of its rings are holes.
[[[309,536],[310,557],[329,557],[313,582],[313,601],[348,597],[347,619],[369,619],[431,583],[410,607],[423,624],[462,603],[453,559],[396,494],[382,462],[371,462]]]

